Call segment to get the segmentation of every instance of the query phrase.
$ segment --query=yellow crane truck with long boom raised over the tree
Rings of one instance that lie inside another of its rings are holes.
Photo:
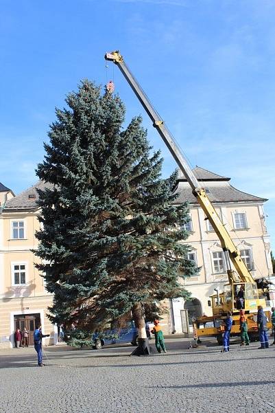
[[[263,291],[257,288],[254,278],[250,274],[246,264],[243,262],[235,243],[232,241],[232,238],[226,230],[224,223],[222,223],[219,214],[215,211],[215,208],[208,198],[206,191],[195,177],[193,170],[190,168],[187,159],[184,157],[184,154],[182,153],[182,150],[180,150],[178,144],[176,144],[176,141],[165,125],[165,122],[162,118],[160,118],[160,115],[154,109],[145,92],[132,75],[128,66],[125,64],[123,56],[121,56],[117,50],[115,52],[107,52],[105,54],[105,59],[115,63],[115,65],[119,67],[124,78],[134,91],[134,94],[141,102],[143,109],[145,109],[147,115],[149,115],[152,120],[153,126],[156,128],[171,155],[174,157],[184,177],[189,182],[193,195],[198,200],[202,210],[204,210],[206,218],[210,221],[222,245],[227,267],[228,283],[224,285],[224,291],[222,293],[217,291],[217,294],[211,296],[213,315],[211,317],[197,317],[193,320],[194,338],[197,342],[200,342],[200,337],[214,335],[217,337],[219,344],[221,344],[222,320],[227,311],[232,312],[232,334],[239,334],[237,291],[239,291],[240,287],[244,292],[244,310],[247,314],[248,333],[250,334],[250,337],[256,337],[258,328],[255,313],[257,311],[257,307],[259,305],[263,306],[263,309],[266,309],[267,307]],[[266,314],[269,315],[269,311],[266,311]],[[213,327],[200,328],[201,324],[205,325],[207,322],[211,322]],[[269,326],[271,326],[271,323],[269,323]]]

